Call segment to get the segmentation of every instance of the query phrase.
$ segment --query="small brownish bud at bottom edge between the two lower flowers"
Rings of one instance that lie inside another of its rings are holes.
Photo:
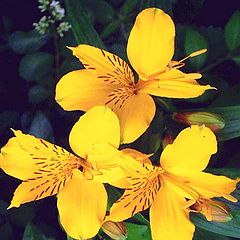
[[[102,230],[114,240],[127,239],[127,228],[124,222],[106,221],[102,225]]]

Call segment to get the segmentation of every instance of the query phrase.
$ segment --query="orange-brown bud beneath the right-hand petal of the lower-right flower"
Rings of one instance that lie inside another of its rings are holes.
[[[208,221],[228,222],[232,220],[230,208],[219,201],[204,200],[193,204],[190,209],[203,214]]]

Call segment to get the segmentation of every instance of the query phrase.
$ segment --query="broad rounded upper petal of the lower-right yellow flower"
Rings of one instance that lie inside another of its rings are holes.
[[[164,148],[160,164],[168,172],[187,175],[202,171],[217,151],[214,133],[205,126],[191,126],[182,130],[172,144]]]

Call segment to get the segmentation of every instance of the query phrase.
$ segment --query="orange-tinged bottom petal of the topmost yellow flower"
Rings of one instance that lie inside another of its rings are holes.
[[[134,94],[122,106],[108,105],[119,118],[122,143],[130,143],[140,137],[149,127],[156,110],[152,97],[147,94]]]

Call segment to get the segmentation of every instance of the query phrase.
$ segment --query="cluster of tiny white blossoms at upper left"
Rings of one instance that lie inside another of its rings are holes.
[[[60,37],[64,36],[64,32],[67,32],[71,25],[64,21],[65,10],[61,7],[59,1],[55,0],[39,0],[39,6],[41,12],[47,12],[48,16],[43,16],[38,23],[33,23],[33,26],[40,34],[46,34],[50,27],[57,25],[56,31]]]

